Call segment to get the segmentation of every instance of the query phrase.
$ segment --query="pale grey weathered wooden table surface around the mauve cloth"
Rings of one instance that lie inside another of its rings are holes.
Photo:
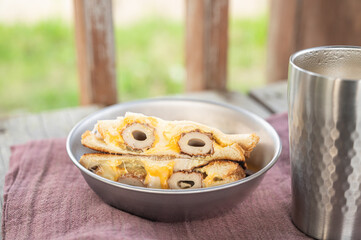
[[[233,104],[262,118],[287,111],[285,82],[254,89],[249,96],[236,92],[202,92],[176,95]],[[3,186],[11,155],[10,146],[44,138],[65,138],[82,118],[100,109],[98,106],[76,107],[39,114],[23,114],[0,120],[0,206],[3,207]],[[0,214],[1,221],[1,214]],[[1,236],[0,236],[1,238]]]

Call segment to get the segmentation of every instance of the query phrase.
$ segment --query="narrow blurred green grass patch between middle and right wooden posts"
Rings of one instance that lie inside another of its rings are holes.
[[[267,30],[266,15],[230,21],[228,89],[246,93],[265,84]]]

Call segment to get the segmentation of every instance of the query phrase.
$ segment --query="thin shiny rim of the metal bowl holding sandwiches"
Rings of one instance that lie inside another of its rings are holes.
[[[188,189],[188,190],[175,190],[175,189],[154,189],[154,188],[144,188],[144,187],[137,187],[137,186],[131,186],[128,184],[123,184],[123,183],[118,183],[106,178],[103,178],[95,173],[92,173],[91,171],[89,171],[88,169],[86,169],[85,167],[83,167],[78,160],[75,158],[75,156],[73,155],[72,151],[71,151],[71,146],[70,146],[70,141],[71,138],[73,137],[74,132],[76,131],[77,128],[79,128],[81,125],[83,125],[84,122],[86,122],[89,118],[92,118],[95,115],[100,114],[101,112],[105,112],[105,111],[109,111],[112,108],[118,108],[119,106],[131,106],[131,105],[138,105],[138,104],[142,104],[142,103],[150,103],[150,102],[166,102],[166,101],[176,101],[176,102],[198,102],[198,103],[205,103],[205,104],[213,104],[213,105],[217,105],[220,107],[224,107],[224,108],[228,108],[230,110],[234,110],[237,112],[240,112],[244,115],[248,115],[249,117],[253,118],[255,121],[260,122],[271,134],[272,134],[272,138],[275,140],[275,148],[276,148],[276,153],[274,154],[272,160],[265,166],[263,167],[261,170],[259,170],[258,172],[252,174],[251,176],[248,176],[246,178],[243,178],[241,180],[232,182],[232,183],[227,183],[227,184],[223,184],[223,185],[219,185],[219,186],[214,186],[214,187],[208,187],[208,188],[198,188],[198,189]],[[95,178],[99,181],[102,181],[106,184],[110,184],[113,185],[115,187],[119,187],[122,189],[126,189],[126,190],[131,190],[131,191],[138,191],[138,192],[146,192],[146,193],[155,193],[155,194],[195,194],[195,193],[205,193],[205,192],[213,192],[213,191],[219,191],[222,189],[227,189],[227,188],[231,188],[231,187],[235,187],[237,185],[252,181],[253,179],[256,179],[258,177],[260,177],[261,175],[263,175],[264,173],[266,173],[278,160],[281,152],[282,152],[282,144],[281,144],[281,140],[279,135],[277,134],[276,130],[268,123],[266,122],[264,119],[262,119],[261,117],[243,109],[237,106],[233,106],[230,104],[226,104],[226,103],[219,103],[219,102],[214,102],[214,101],[210,101],[210,100],[199,100],[199,99],[192,99],[192,98],[171,98],[171,97],[162,97],[162,98],[154,98],[154,99],[142,99],[142,100],[135,100],[135,101],[130,101],[130,102],[126,102],[126,103],[118,103],[118,104],[114,104],[105,108],[102,108],[92,114],[89,114],[88,116],[86,116],[85,118],[83,118],[82,120],[80,120],[69,132],[67,140],[66,140],[66,150],[67,153],[70,157],[70,159],[72,160],[73,164],[75,164],[75,166],[77,168],[80,169],[80,171],[82,173],[87,174],[88,176]]]

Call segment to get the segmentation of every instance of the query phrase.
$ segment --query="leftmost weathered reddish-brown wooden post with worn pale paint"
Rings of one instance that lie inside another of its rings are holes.
[[[111,0],[74,0],[80,103],[117,102]]]

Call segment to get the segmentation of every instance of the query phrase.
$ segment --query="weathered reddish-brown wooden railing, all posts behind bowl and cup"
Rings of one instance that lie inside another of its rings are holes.
[[[229,1],[185,4],[186,91],[225,91]],[[116,103],[112,1],[74,0],[74,9],[81,104]],[[297,50],[361,45],[360,12],[360,0],[271,0],[267,82],[287,78],[289,56]]]

